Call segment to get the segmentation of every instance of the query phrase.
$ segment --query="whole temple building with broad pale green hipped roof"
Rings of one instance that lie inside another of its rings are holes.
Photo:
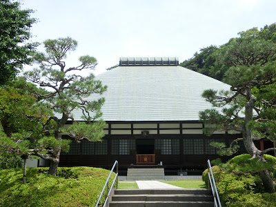
[[[189,174],[206,168],[207,159],[219,157],[211,141],[230,144],[242,136],[224,131],[204,135],[199,112],[212,106],[201,97],[202,92],[229,90],[230,86],[179,66],[175,57],[121,58],[118,67],[96,79],[108,86],[101,108],[108,124],[105,137],[101,142],[72,141],[59,166],[110,168],[118,160],[122,172],[146,166]],[[81,111],[74,115],[81,121]]]

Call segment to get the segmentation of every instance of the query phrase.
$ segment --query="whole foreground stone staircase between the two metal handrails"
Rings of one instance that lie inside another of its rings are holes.
[[[213,207],[214,199],[207,189],[115,190],[110,207]]]

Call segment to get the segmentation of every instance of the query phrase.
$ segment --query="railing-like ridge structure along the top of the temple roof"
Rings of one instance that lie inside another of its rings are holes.
[[[119,66],[178,66],[177,57],[121,57]]]

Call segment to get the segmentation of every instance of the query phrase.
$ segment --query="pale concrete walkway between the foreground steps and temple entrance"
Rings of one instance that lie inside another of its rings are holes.
[[[139,189],[183,189],[170,184],[164,184],[155,180],[136,181]]]

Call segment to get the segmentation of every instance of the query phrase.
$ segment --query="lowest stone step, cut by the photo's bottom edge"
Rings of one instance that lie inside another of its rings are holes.
[[[110,207],[213,207],[211,201],[111,201]]]

